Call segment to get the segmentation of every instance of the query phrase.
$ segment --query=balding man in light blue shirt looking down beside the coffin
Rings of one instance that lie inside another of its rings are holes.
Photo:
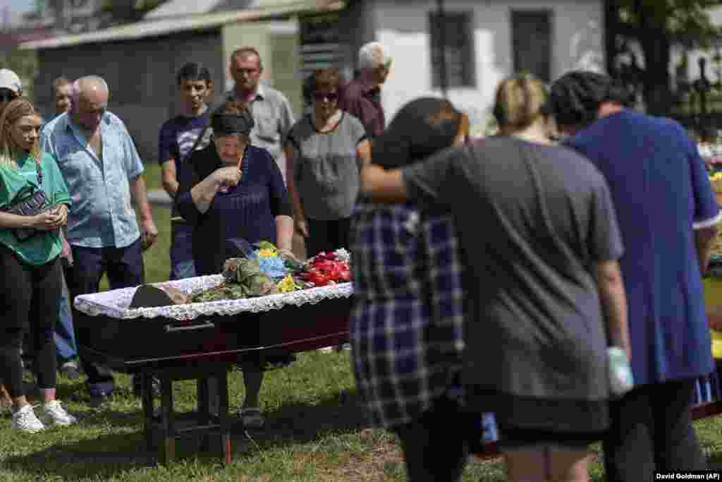
[[[144,171],[123,121],[106,111],[108,85],[89,76],[73,84],[71,111],[40,133],[71,194],[67,239],[74,264],[66,272],[71,298],[96,293],[107,272],[112,289],[144,283],[142,250],[157,237]],[[139,220],[131,201],[139,209]],[[80,317],[74,310],[74,316]],[[99,363],[84,363],[91,401],[113,392],[113,375]]]

